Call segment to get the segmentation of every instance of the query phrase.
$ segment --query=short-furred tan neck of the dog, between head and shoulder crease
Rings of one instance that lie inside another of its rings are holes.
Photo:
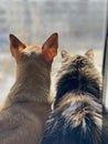
[[[9,103],[47,103],[51,83],[48,69],[43,65],[18,65],[17,81],[8,95]]]

